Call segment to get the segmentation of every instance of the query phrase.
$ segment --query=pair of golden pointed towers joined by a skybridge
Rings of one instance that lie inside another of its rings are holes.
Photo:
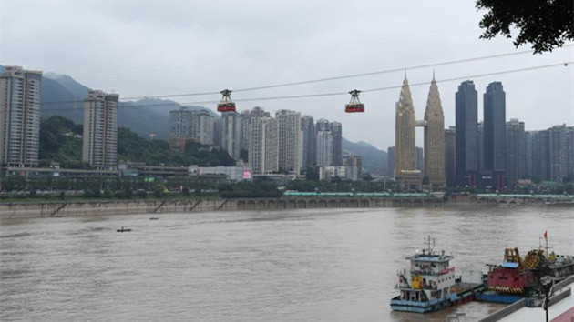
[[[416,169],[415,128],[425,129],[425,174]],[[426,100],[425,119],[416,121],[408,80],[403,80],[395,113],[395,180],[400,189],[445,186],[445,115],[435,75]]]

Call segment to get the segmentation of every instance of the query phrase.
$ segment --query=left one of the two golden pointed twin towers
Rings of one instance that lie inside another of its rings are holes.
[[[419,188],[422,184],[416,169],[415,126],[415,108],[405,75],[395,113],[395,178],[400,189]]]

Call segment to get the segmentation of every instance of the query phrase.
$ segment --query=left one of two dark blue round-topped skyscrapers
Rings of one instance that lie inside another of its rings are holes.
[[[478,98],[472,81],[462,82],[456,92],[456,185],[477,186]]]

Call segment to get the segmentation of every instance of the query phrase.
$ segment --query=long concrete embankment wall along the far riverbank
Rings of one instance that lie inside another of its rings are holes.
[[[439,198],[354,198],[354,197],[282,197],[282,198],[206,198],[140,199],[97,201],[46,201],[0,204],[0,219],[98,216],[209,211],[285,210],[313,208],[412,208],[412,207],[540,207],[569,206],[571,203],[548,203],[539,199],[456,197]]]

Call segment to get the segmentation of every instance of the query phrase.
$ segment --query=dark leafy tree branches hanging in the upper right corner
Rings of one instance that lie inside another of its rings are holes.
[[[484,39],[504,35],[512,38],[511,27],[518,29],[517,47],[532,44],[535,54],[550,52],[574,40],[572,0],[477,0],[477,9],[487,13],[480,21]]]

